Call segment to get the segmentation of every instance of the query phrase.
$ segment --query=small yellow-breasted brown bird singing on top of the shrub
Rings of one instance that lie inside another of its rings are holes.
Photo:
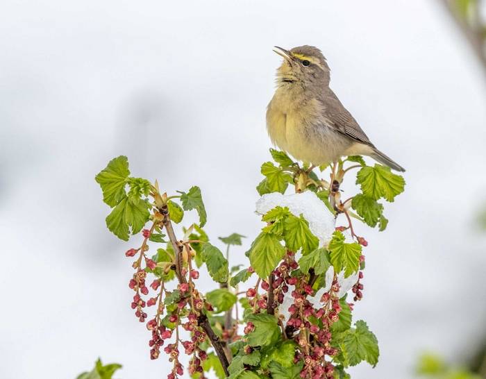
[[[329,87],[330,69],[317,47],[274,51],[284,58],[267,106],[271,142],[296,160],[328,165],[349,155],[367,155],[396,171],[401,165],[376,149]]]

